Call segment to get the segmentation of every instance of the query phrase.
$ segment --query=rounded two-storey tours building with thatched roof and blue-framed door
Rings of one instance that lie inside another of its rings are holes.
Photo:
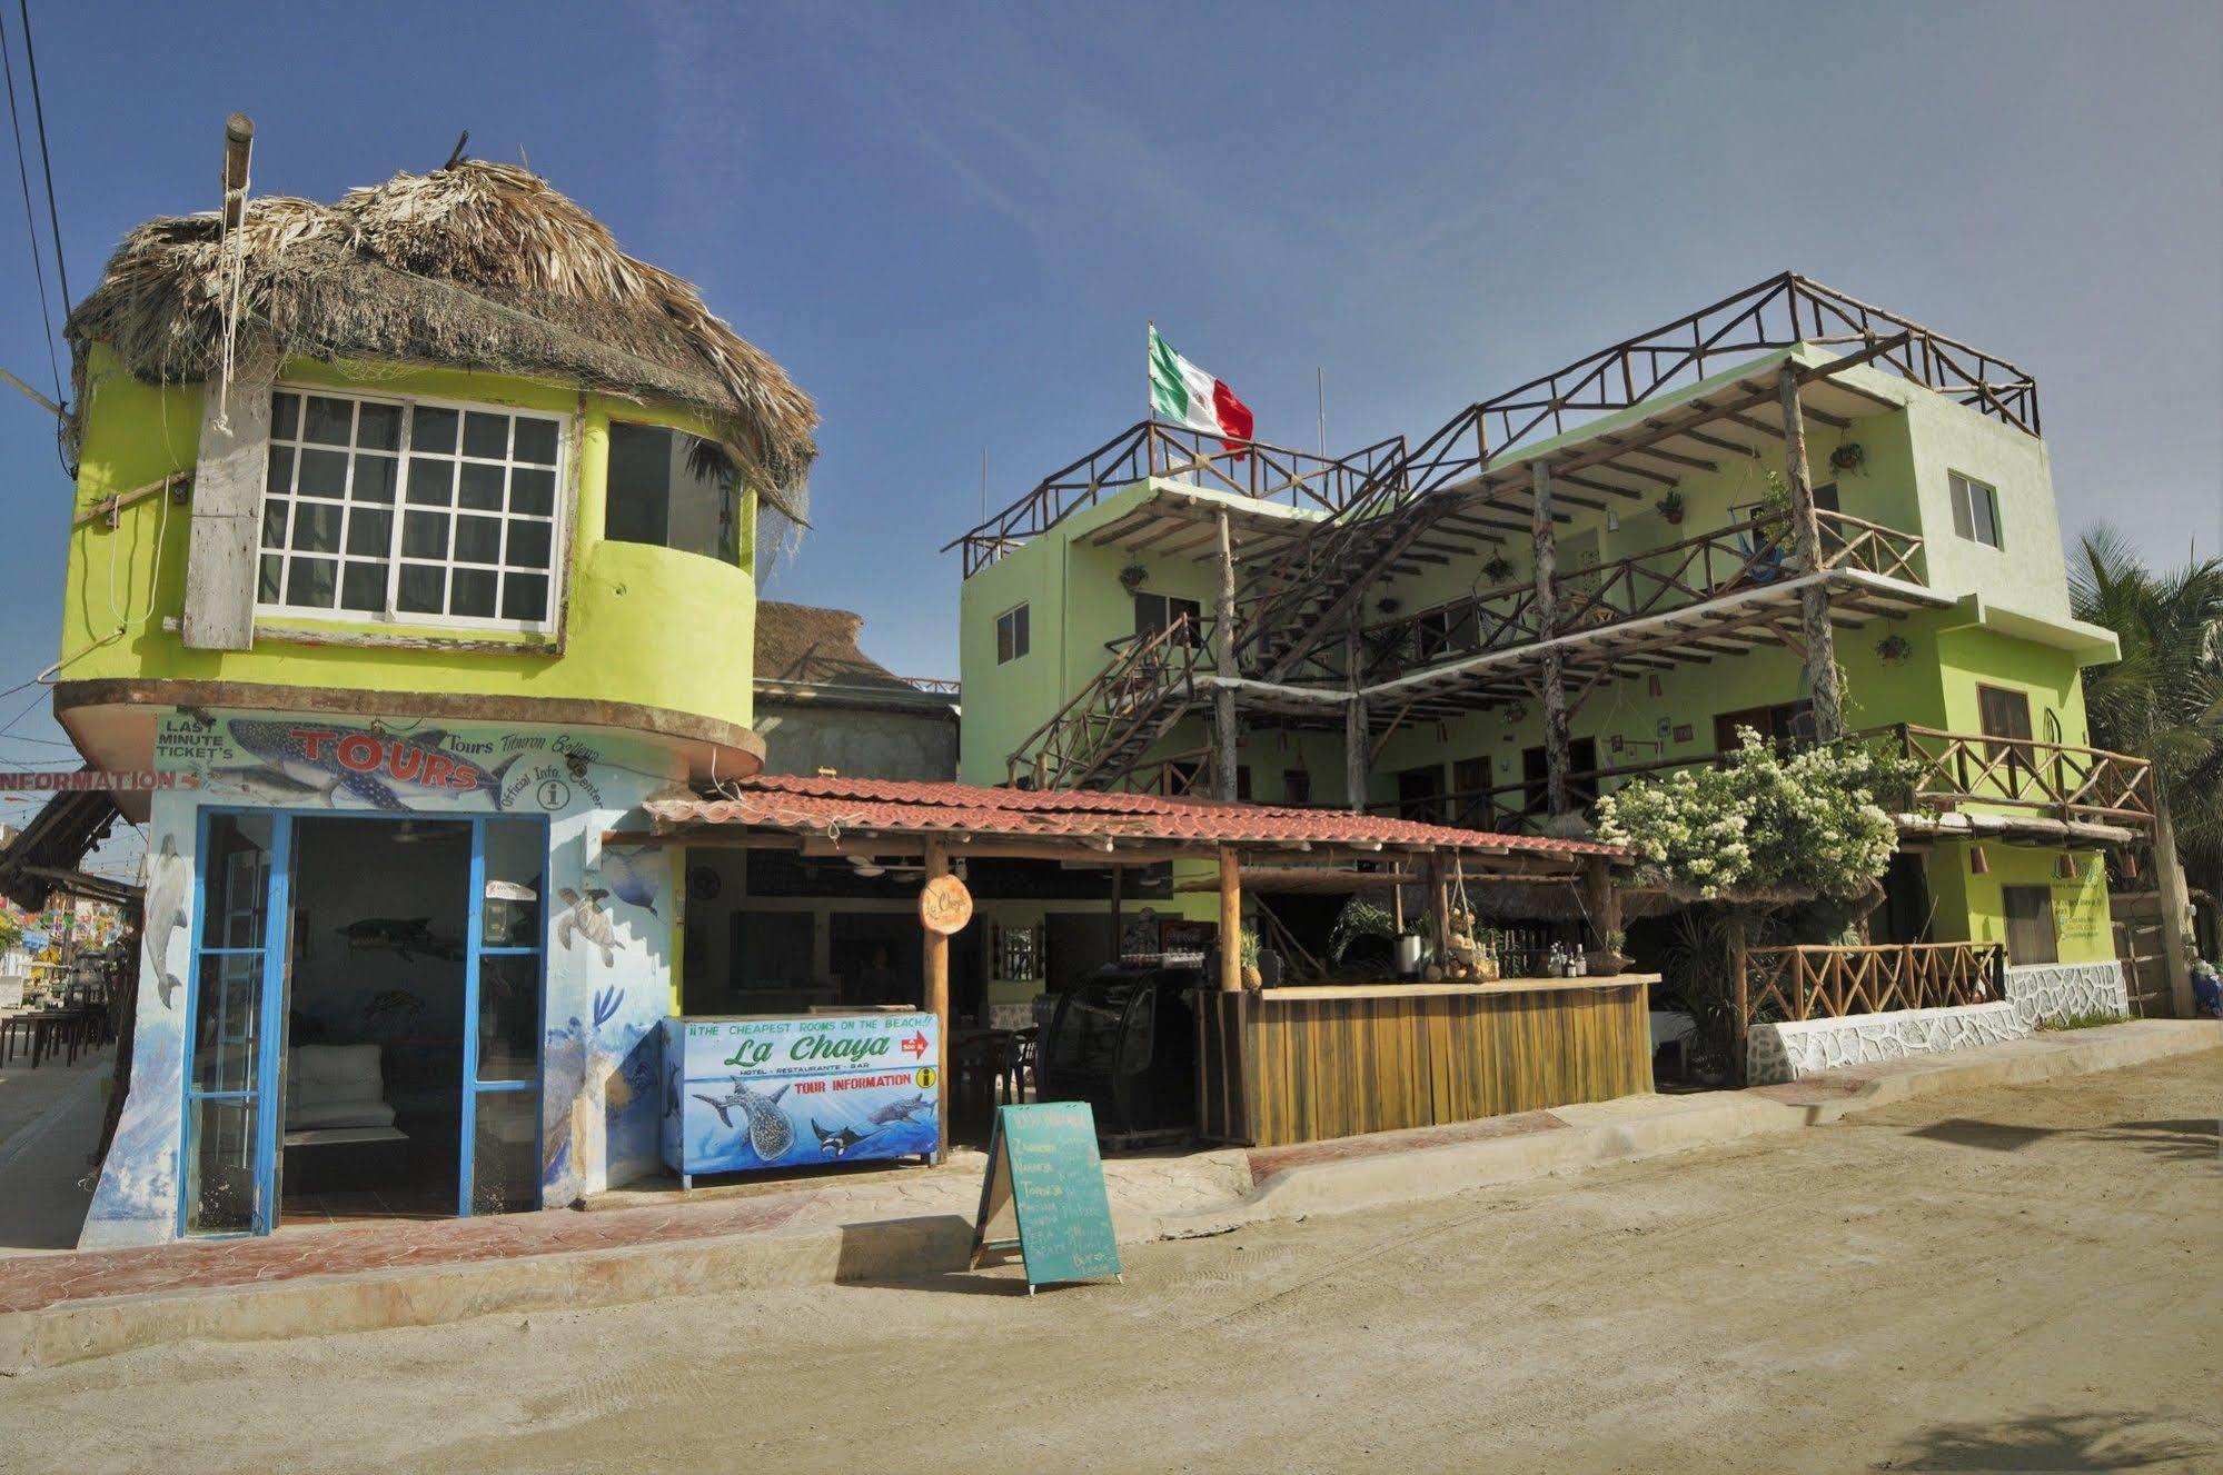
[[[69,340],[56,715],[149,837],[84,1244],[651,1168],[682,897],[602,837],[762,766],[809,395],[478,160],[142,224]]]

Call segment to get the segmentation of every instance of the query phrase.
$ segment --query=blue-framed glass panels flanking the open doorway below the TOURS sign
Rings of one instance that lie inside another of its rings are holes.
[[[278,1224],[285,1024],[291,995],[293,822],[425,820],[202,809],[193,971],[185,1002],[178,1233],[267,1235]],[[547,1037],[545,817],[456,815],[471,826],[456,1213],[540,1206]]]

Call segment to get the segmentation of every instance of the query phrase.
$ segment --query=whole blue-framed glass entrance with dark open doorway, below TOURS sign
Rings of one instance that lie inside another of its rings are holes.
[[[276,1228],[293,1151],[538,1208],[547,846],[509,815],[200,813],[182,1235]]]

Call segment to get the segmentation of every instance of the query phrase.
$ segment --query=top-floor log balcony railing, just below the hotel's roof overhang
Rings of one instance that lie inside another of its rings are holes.
[[[1910,584],[1921,582],[1918,535],[1847,513],[1816,509],[1814,515],[1821,524],[1823,569],[1858,569]],[[1556,575],[1554,633],[1612,629],[1781,584],[1798,573],[1803,569],[1792,553],[1790,518],[1763,513],[1663,549]],[[1367,649],[1376,662],[1372,680],[1467,655],[1512,651],[1541,638],[1534,580],[1505,584],[1367,626]]]

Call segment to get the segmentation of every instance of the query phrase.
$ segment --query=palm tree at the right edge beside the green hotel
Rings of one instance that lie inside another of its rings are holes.
[[[2176,1013],[2192,1013],[2185,891],[2179,826],[2207,849],[2223,835],[2223,562],[2207,558],[2154,573],[2114,529],[2083,538],[2070,571],[2079,620],[2103,624],[2123,658],[2085,666],[2085,713],[2096,740],[2154,764],[2154,884],[2161,891],[2161,949]]]

